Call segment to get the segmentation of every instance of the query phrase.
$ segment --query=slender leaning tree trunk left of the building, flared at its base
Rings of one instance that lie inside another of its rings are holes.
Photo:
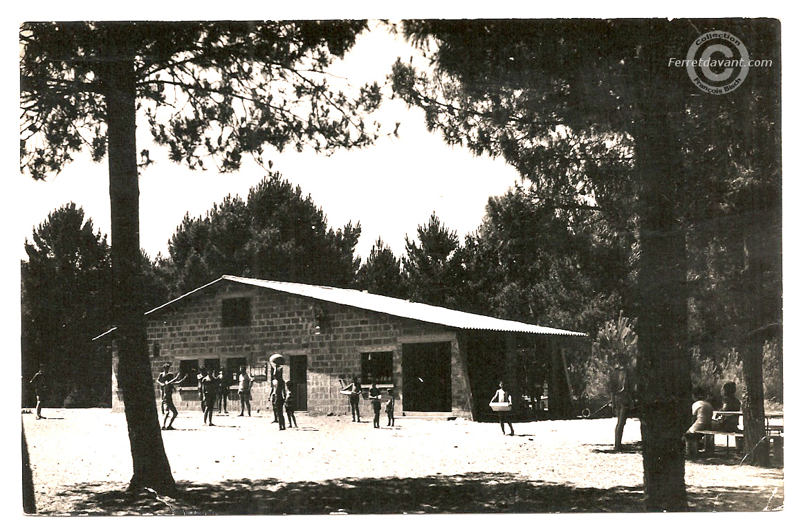
[[[134,475],[131,490],[151,487],[175,491],[164,451],[151,364],[147,351],[139,248],[139,171],[136,162],[136,82],[134,62],[124,56],[124,34],[115,35],[111,58],[103,68],[106,96],[111,194],[111,270],[119,351],[119,389],[123,393]],[[116,52],[116,53],[115,53]],[[119,53],[119,55],[118,55]]]

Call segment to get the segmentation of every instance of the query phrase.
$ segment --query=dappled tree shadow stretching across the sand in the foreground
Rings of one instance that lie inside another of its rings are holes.
[[[110,487],[115,487],[112,489]],[[72,515],[328,515],[433,513],[642,512],[640,487],[572,487],[508,473],[425,478],[276,479],[179,483],[175,498],[123,491],[122,483],[70,487]],[[783,503],[768,487],[714,487],[690,492],[694,511],[761,511]],[[746,496],[749,502],[744,503]],[[773,499],[771,499],[771,496]],[[771,503],[772,502],[772,503]],[[56,513],[52,513],[56,514]],[[60,514],[60,513],[59,513]]]

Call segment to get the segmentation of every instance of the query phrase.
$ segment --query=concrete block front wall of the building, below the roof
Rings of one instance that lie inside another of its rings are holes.
[[[223,299],[245,296],[252,299],[251,324],[223,327]],[[320,334],[315,334],[316,324],[320,323],[316,315],[323,315]],[[148,322],[147,336],[154,380],[165,362],[171,363],[172,371],[177,373],[181,359],[216,358],[224,365],[228,357],[242,357],[249,366],[260,368],[264,373],[269,357],[275,353],[306,355],[308,412],[316,415],[350,413],[347,396],[340,394],[339,380],[344,378],[349,383],[353,375],[360,377],[361,354],[371,351],[392,351],[396,415],[400,415],[403,411],[402,344],[426,341],[430,336],[430,341],[451,342],[453,415],[470,416],[467,371],[456,334],[448,327],[260,287],[223,283],[155,313]],[[154,347],[158,357],[153,356]],[[114,365],[116,367],[116,361]],[[291,378],[289,366],[284,367],[284,379]],[[154,387],[155,395],[159,395]],[[116,384],[113,390],[113,407],[122,411]],[[271,413],[268,399],[268,380],[257,377],[252,388],[252,410],[260,410],[263,415]],[[196,390],[176,391],[174,400],[179,410],[199,409]],[[229,412],[239,410],[235,390],[230,392],[228,403]],[[364,400],[361,411],[363,415],[369,413]]]

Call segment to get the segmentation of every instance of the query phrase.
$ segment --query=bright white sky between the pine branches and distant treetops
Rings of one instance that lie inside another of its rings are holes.
[[[401,38],[376,25],[360,36],[344,61],[332,67],[332,73],[347,78],[352,86],[384,82],[396,58],[408,61],[416,54]],[[413,63],[422,66],[425,61],[417,56]],[[337,82],[334,79],[332,84]],[[517,171],[501,158],[477,158],[466,148],[445,145],[439,134],[425,130],[422,110],[385,99],[376,116],[382,130],[391,131],[400,122],[400,137],[380,138],[374,146],[331,156],[295,151],[274,151],[266,156],[273,162],[272,170],[311,195],[328,216],[328,226],[336,229],[360,222],[356,254],[363,260],[379,237],[400,257],[407,234],[415,238],[417,226],[427,222],[433,212],[463,238],[481,223],[489,196],[503,194],[518,178]],[[141,150],[147,146],[149,133],[142,119],[139,123]],[[139,187],[141,245],[151,257],[167,254],[167,242],[184,214],[203,215],[227,194],[247,198],[248,190],[266,174],[252,161],[233,174],[193,171],[169,162],[158,148],[149,148],[156,163],[142,171]],[[34,227],[68,202],[82,206],[95,230],[111,238],[105,159],[93,163],[81,156],[45,182],[14,174],[11,192],[26,197],[26,206],[14,220],[19,258],[26,258],[24,242]]]

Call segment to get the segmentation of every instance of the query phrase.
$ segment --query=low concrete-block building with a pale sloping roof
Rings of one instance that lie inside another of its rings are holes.
[[[147,312],[154,379],[163,363],[174,373],[224,367],[229,406],[238,411],[235,373],[247,366],[252,410],[263,414],[268,359],[280,353],[287,360],[284,380],[296,387],[296,409],[311,414],[348,414],[340,390],[356,376],[365,395],[373,381],[382,393],[393,387],[396,416],[481,419],[499,379],[524,397],[521,404],[530,402],[527,409],[543,410],[547,396],[550,415],[566,415],[569,382],[560,347],[582,336],[366,291],[231,275]],[[114,352],[112,407],[122,411],[117,360]],[[175,405],[199,409],[194,376],[176,391]]]

